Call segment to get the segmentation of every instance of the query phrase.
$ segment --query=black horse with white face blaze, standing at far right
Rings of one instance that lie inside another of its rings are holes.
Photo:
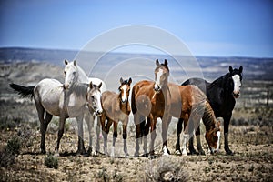
[[[220,76],[212,83],[207,82],[202,78],[190,78],[185,81],[182,86],[195,85],[198,86],[204,93],[207,94],[209,104],[211,105],[216,117],[224,119],[224,136],[225,150],[227,155],[233,155],[233,152],[228,147],[228,126],[232,116],[232,110],[235,106],[235,98],[238,98],[241,81],[242,81],[243,66],[239,69],[233,69],[229,66],[229,73]],[[179,119],[177,123],[177,136],[182,132],[183,119]],[[205,152],[200,143],[200,128],[196,129],[197,150],[199,154],[204,155]],[[190,154],[198,154],[193,146],[193,137],[189,139],[188,149]],[[176,149],[180,151],[180,144],[176,145]]]

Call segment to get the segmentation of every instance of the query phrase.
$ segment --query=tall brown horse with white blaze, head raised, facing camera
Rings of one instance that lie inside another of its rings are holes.
[[[162,140],[163,147],[167,148],[167,126],[171,117],[169,113],[169,90],[167,87],[167,78],[169,69],[167,60],[160,64],[156,60],[155,82],[143,80],[137,82],[132,90],[131,107],[134,114],[134,122],[136,125],[136,152],[135,156],[139,156],[139,140],[144,136],[144,152],[147,156],[147,134],[151,132],[151,142],[149,147],[150,157],[154,156],[154,142],[157,136],[156,125],[157,118],[162,120]],[[147,117],[147,122],[145,122]],[[169,151],[167,150],[169,153]]]

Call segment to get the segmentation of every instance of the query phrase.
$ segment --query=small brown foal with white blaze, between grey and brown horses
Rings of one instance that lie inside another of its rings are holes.
[[[103,130],[104,136],[104,152],[108,155],[107,152],[107,135],[109,133],[110,126],[114,125],[113,132],[113,147],[111,151],[111,157],[115,157],[115,144],[117,137],[117,124],[119,121],[122,122],[123,126],[123,142],[124,142],[124,153],[125,157],[128,157],[127,152],[127,125],[129,120],[129,114],[131,112],[131,107],[129,104],[129,93],[130,93],[130,85],[132,83],[132,79],[129,78],[124,80],[122,77],[120,78],[120,86],[118,87],[119,94],[115,92],[106,91],[102,95],[102,105],[103,105],[103,113],[100,116],[100,122]],[[106,123],[107,120],[107,123]]]

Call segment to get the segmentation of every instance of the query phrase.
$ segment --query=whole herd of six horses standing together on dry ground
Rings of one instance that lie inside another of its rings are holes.
[[[210,152],[216,153],[220,145],[220,122],[218,117],[224,119],[225,150],[227,155],[233,155],[228,147],[228,126],[235,106],[235,98],[240,94],[243,67],[233,69],[208,83],[202,78],[190,78],[181,86],[169,83],[168,62],[159,63],[156,60],[154,70],[155,80],[142,80],[137,82],[131,90],[132,79],[120,78],[118,93],[107,91],[106,84],[94,77],[86,76],[84,70],[77,65],[76,60],[65,60],[65,83],[56,79],[45,78],[36,86],[10,86],[23,97],[34,98],[38,112],[41,132],[41,152],[45,153],[45,133],[52,116],[59,116],[59,129],[56,142],[56,155],[60,140],[64,134],[66,118],[76,118],[78,126],[77,154],[86,154],[100,151],[99,135],[102,130],[104,138],[104,153],[108,155],[107,135],[113,125],[113,144],[111,157],[115,157],[115,144],[118,122],[123,125],[124,153],[128,157],[126,138],[129,115],[132,111],[136,126],[135,157],[139,157],[139,144],[143,144],[146,157],[155,157],[154,143],[157,136],[157,118],[162,120],[162,153],[169,155],[167,148],[167,130],[172,117],[177,117],[177,144],[176,154],[187,155],[205,152],[200,143],[200,120],[206,128],[205,138]],[[131,102],[129,96],[131,94]],[[96,149],[92,147],[92,127],[97,117]],[[89,132],[89,147],[86,152],[84,146],[83,120],[86,121]],[[184,127],[182,125],[184,124]],[[182,147],[180,147],[180,134]],[[197,137],[197,151],[193,146],[194,132]],[[149,150],[147,150],[147,136],[150,133]],[[182,150],[181,150],[182,149]]]

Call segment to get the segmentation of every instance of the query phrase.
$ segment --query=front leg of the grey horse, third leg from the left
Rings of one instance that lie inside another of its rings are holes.
[[[78,128],[78,142],[77,142],[77,151],[76,154],[85,155],[86,154],[86,148],[84,144],[84,128],[83,128],[83,115],[76,117],[77,122],[77,128]]]

